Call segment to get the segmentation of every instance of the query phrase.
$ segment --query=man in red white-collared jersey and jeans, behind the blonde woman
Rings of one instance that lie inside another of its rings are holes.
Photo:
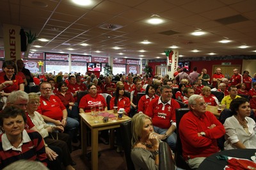
[[[178,102],[172,98],[172,88],[164,85],[160,89],[161,97],[154,98],[149,102],[147,114],[152,118],[154,132],[158,134],[159,139],[166,140],[172,150],[175,150],[177,143],[176,116],[175,110],[180,108]]]

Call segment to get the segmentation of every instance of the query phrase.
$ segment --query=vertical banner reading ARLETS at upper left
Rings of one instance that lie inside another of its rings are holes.
[[[20,26],[3,25],[5,60],[17,60],[20,57]]]

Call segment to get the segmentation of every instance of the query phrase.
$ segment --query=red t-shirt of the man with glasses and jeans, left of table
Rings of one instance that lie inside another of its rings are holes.
[[[62,120],[63,110],[66,109],[65,105],[61,102],[60,98],[51,95],[50,99],[40,96],[40,105],[37,111],[53,120]]]

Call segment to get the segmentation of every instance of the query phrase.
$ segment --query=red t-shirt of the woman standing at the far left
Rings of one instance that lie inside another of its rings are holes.
[[[9,79],[6,77],[6,75],[1,76],[0,77],[0,84],[5,82],[5,81],[9,81]],[[20,89],[20,84],[23,84],[24,81],[22,79],[22,77],[20,77],[19,75],[13,75],[12,76],[12,81],[13,81],[13,85],[10,86],[9,84],[6,84],[6,88],[3,88],[4,93],[11,93],[12,91],[17,91]]]

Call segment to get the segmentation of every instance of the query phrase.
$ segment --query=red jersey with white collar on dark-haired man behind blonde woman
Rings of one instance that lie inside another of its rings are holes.
[[[175,110],[178,108],[180,108],[180,105],[173,98],[171,98],[168,103],[163,104],[161,102],[161,97],[159,97],[154,98],[149,102],[145,114],[152,118],[154,126],[159,128],[170,128],[170,121],[172,120],[176,122]]]

